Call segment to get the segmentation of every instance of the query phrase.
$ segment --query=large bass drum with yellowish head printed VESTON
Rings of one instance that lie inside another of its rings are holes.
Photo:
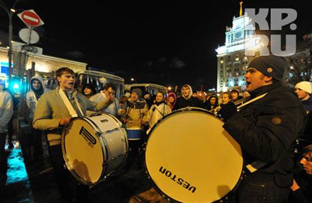
[[[240,145],[206,110],[184,108],[162,118],[145,146],[152,185],[172,202],[227,199],[243,174]]]

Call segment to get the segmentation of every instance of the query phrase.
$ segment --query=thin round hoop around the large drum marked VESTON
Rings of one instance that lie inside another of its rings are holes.
[[[223,121],[223,118],[218,116],[218,115],[214,115],[212,112],[209,112],[208,110],[205,110],[203,108],[194,108],[194,107],[187,107],[187,108],[182,108],[182,109],[179,109],[179,110],[174,110],[174,112],[168,114],[168,115],[165,115],[164,117],[162,117],[162,119],[158,120],[158,122],[152,127],[152,129],[150,130],[150,133],[153,131],[153,129],[157,126],[157,124],[160,123],[161,120],[165,119],[166,117],[169,117],[169,116],[172,116],[174,114],[176,114],[177,112],[185,112],[185,111],[199,111],[199,112],[206,112],[210,115],[213,115],[214,117],[217,117],[219,120],[222,120]],[[224,121],[223,121],[224,122]],[[150,135],[149,133],[149,135]],[[149,139],[150,137],[148,137]],[[147,139],[147,141],[148,141]],[[146,146],[147,146],[147,141],[143,144],[143,150],[145,151],[146,153]],[[241,149],[241,148],[240,148]],[[152,180],[152,177],[150,176],[150,173],[148,172],[147,170],[147,163],[146,163],[146,154],[143,153],[143,163],[144,163],[144,170],[145,170],[145,174],[147,175],[147,179],[150,180],[150,183],[152,184],[152,186],[157,190],[158,193],[160,193],[160,195],[162,195],[162,197],[164,199],[167,199],[167,201],[169,202],[174,202],[174,203],[184,203],[184,202],[179,202],[177,201],[176,199],[172,199],[172,197],[169,197],[168,195],[165,194],[165,192],[162,192],[162,190],[160,190],[160,188],[155,184],[155,182]],[[243,150],[242,150],[242,156],[243,156]],[[243,175],[245,173],[244,171],[244,168],[245,168],[245,159],[243,158],[243,166],[242,166],[242,171],[240,173],[240,178],[238,178],[238,182],[236,182],[235,186],[233,187],[233,190],[230,190],[230,192],[228,192],[228,194],[226,194],[224,197],[222,197],[221,199],[218,199],[212,203],[216,203],[216,202],[224,202],[225,200],[228,199],[228,197],[230,197],[231,195],[233,195],[233,193],[235,192],[235,190],[238,189],[238,185],[240,185],[240,182],[243,180]]]

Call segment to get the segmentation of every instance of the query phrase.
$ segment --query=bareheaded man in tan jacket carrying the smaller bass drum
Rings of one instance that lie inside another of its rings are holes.
[[[62,67],[56,71],[59,84],[54,91],[41,95],[35,108],[33,127],[48,133],[49,154],[52,167],[55,170],[55,180],[62,199],[71,202],[72,190],[69,188],[69,171],[65,169],[62,156],[61,134],[63,127],[69,124],[73,117],[82,117],[87,110],[99,111],[111,104],[113,97],[101,103],[93,103],[82,93],[74,90],[74,71]],[[88,202],[89,186],[77,184],[78,202]]]

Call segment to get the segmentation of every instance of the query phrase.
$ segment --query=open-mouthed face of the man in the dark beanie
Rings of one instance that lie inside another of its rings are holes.
[[[268,78],[270,77],[264,76],[264,74],[262,74],[260,71],[257,71],[257,69],[248,68],[245,74],[246,91],[254,91],[261,86],[267,85],[265,81]]]

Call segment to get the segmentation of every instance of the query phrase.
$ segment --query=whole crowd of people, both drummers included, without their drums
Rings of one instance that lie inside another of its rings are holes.
[[[72,69],[56,72],[59,87],[48,91],[43,79],[30,80],[27,105],[32,124],[33,156],[42,156],[40,137],[47,133],[52,167],[57,187],[67,202],[74,195],[69,172],[62,158],[62,128],[72,117],[110,113],[117,117],[128,134],[129,160],[140,164],[143,141],[162,117],[175,110],[203,108],[224,121],[223,128],[240,144],[245,168],[232,202],[312,202],[312,86],[301,81],[295,88],[281,83],[286,59],[274,55],[255,57],[247,67],[246,90],[196,95],[188,84],[180,92],[150,95],[133,88],[116,98],[116,86],[106,83],[99,93],[91,84],[82,92],[74,89]],[[12,98],[0,83],[0,161],[3,164],[6,129],[13,112]],[[196,136],[196,135],[194,135]],[[128,162],[130,164],[130,161]],[[88,202],[89,187],[77,182],[78,202]]]

